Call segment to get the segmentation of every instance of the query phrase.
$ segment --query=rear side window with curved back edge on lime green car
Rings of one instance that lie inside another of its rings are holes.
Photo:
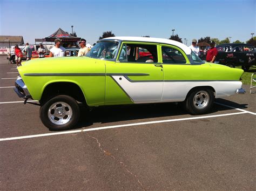
[[[183,54],[172,47],[162,46],[163,63],[167,64],[186,64]]]

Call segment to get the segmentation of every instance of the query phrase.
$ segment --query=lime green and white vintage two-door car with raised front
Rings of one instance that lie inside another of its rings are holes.
[[[84,57],[30,60],[18,71],[15,92],[39,101],[40,118],[52,130],[76,125],[78,102],[182,102],[189,113],[203,114],[215,98],[245,93],[243,70],[205,63],[186,45],[160,38],[105,38]]]

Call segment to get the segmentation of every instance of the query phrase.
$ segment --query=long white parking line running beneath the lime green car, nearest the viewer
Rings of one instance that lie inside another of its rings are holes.
[[[163,122],[185,121],[185,120],[195,120],[195,119],[205,119],[205,118],[216,118],[216,117],[223,117],[223,116],[228,116],[228,115],[238,115],[238,114],[245,114],[245,113],[246,112],[238,112],[238,113],[227,113],[227,114],[219,114],[219,115],[207,115],[207,116],[192,117],[192,118],[137,122],[137,123],[134,123],[134,124],[113,125],[113,126],[95,127],[95,128],[80,129],[80,130],[73,130],[73,131],[63,131],[63,132],[57,132],[57,133],[45,133],[45,134],[36,134],[36,135],[28,135],[28,136],[21,136],[21,137],[2,138],[2,139],[0,139],[0,141],[28,139],[28,138],[36,138],[36,137],[46,137],[46,136],[60,135],[60,134],[82,133],[82,132],[98,131],[98,130],[110,129],[110,128],[130,127],[130,126],[139,126],[139,125],[147,125],[147,124],[159,124],[159,123],[163,123]]]

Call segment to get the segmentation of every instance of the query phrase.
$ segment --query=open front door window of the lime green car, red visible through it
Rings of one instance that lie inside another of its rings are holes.
[[[157,45],[123,44],[118,60],[131,63],[157,63]]]

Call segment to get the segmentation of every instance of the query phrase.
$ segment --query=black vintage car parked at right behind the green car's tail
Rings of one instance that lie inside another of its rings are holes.
[[[230,67],[241,65],[242,69],[248,71],[255,65],[255,48],[251,44],[227,43],[216,46],[218,50],[216,63]]]

